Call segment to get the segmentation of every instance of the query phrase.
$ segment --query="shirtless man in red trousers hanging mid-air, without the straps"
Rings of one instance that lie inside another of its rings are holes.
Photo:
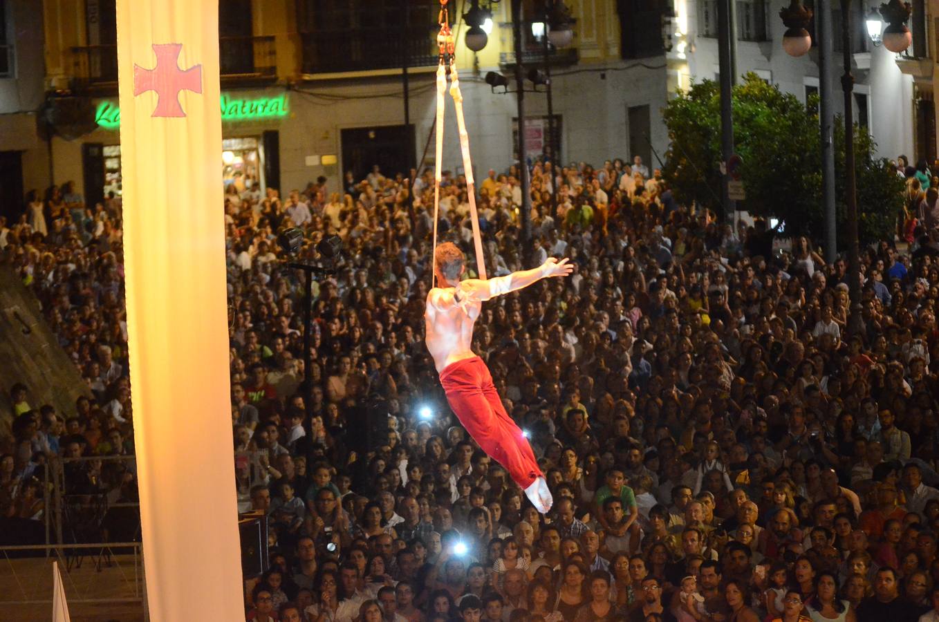
[[[430,356],[440,385],[460,423],[483,450],[506,468],[543,514],[552,504],[545,476],[529,442],[499,399],[483,359],[470,350],[472,328],[483,302],[528,287],[547,277],[566,277],[573,270],[567,259],[549,258],[544,265],[496,279],[460,281],[466,271],[463,253],[447,242],[437,247],[435,274],[439,287],[427,295],[424,323]]]

